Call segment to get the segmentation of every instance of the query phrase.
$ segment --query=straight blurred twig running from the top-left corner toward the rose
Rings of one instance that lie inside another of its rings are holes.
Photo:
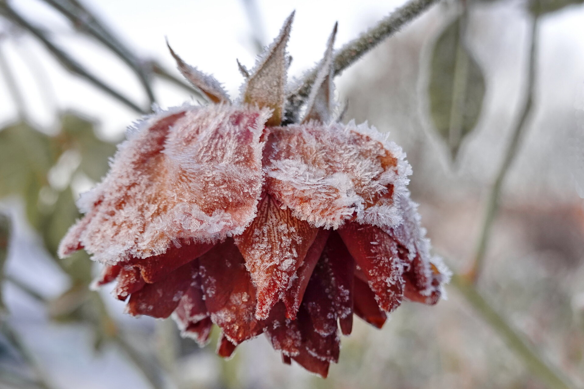
[[[77,61],[75,61],[75,59],[69,57],[69,55],[65,51],[62,51],[60,48],[58,48],[53,43],[53,41],[51,41],[50,38],[47,37],[44,31],[33,26],[26,19],[20,16],[19,13],[16,12],[8,4],[8,2],[0,2],[0,13],[2,13],[2,15],[4,15],[7,19],[12,20],[12,22],[15,22],[20,27],[36,36],[44,44],[47,50],[53,53],[55,58],[57,58],[58,61],[61,62],[61,65],[67,68],[69,71],[88,80],[93,85],[103,90],[103,92],[106,92],[110,96],[114,97],[114,99],[121,101],[121,103],[124,103],[132,110],[142,114],[146,113],[146,111],[140,108],[140,106],[130,101],[130,99],[128,99],[126,96],[123,96],[123,94],[121,94],[120,92],[117,92],[116,90],[112,89],[112,87],[108,86],[102,80],[100,80],[92,73],[90,73],[88,70],[86,70],[83,66],[78,64]]]

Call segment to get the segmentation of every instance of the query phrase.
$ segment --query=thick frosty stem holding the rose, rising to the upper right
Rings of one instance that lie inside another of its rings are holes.
[[[410,0],[404,6],[396,9],[391,15],[381,19],[376,26],[371,27],[361,36],[345,44],[335,55],[335,76],[354,64],[366,52],[376,47],[385,38],[396,33],[406,23],[415,19],[430,5],[439,0]],[[300,86],[294,91],[289,100],[294,107],[299,107],[308,97],[310,88],[317,76],[318,69],[312,69],[302,80]]]

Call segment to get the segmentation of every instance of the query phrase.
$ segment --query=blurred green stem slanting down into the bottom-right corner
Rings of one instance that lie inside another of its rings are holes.
[[[484,297],[477,291],[475,286],[468,281],[465,276],[454,274],[450,284],[460,292],[471,306],[477,310],[481,317],[491,325],[506,345],[512,349],[516,355],[523,360],[530,372],[539,377],[541,381],[552,389],[575,389],[578,388],[568,377],[565,377],[559,369],[541,356],[533,345],[515,328],[513,328],[505,318],[500,316],[493,307],[486,302]]]

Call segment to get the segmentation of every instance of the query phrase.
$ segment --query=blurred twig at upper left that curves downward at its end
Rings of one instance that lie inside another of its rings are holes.
[[[140,59],[125,47],[120,40],[114,36],[114,34],[110,33],[105,24],[100,22],[79,2],[71,2],[67,0],[44,0],[44,2],[61,12],[61,14],[67,17],[67,19],[69,19],[74,26],[78,27],[79,30],[96,38],[130,66],[138,76],[138,79],[140,79],[140,83],[144,87],[150,103],[155,103],[150,79],[148,78],[147,72],[145,72],[144,66],[141,64]]]

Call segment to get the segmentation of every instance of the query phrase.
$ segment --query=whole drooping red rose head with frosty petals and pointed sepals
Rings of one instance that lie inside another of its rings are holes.
[[[172,315],[201,345],[216,324],[224,357],[266,334],[284,362],[326,377],[353,314],[381,328],[404,299],[436,303],[448,271],[430,256],[401,148],[335,118],[336,27],[303,119],[282,125],[292,18],[251,71],[240,66],[234,103],[171,49],[210,104],[132,127],[59,254],[84,248],[105,264],[95,285],[117,281],[134,316]]]

